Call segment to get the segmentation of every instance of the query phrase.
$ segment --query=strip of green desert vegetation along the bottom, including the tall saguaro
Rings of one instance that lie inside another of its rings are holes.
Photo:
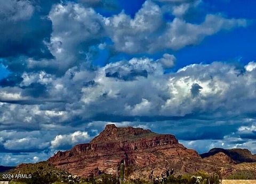
[[[131,179],[130,174],[132,169],[130,167],[124,166],[125,164],[121,163],[117,169],[118,175],[111,174],[101,174],[98,177],[89,177],[89,178],[79,178],[76,175],[71,175],[68,172],[62,171],[58,168],[55,168],[53,165],[47,162],[39,162],[36,164],[22,164],[15,170],[9,171],[9,174],[31,174],[31,178],[13,178],[10,180],[11,184],[25,184],[25,183],[35,183],[35,184],[75,184],[75,183],[84,183],[84,184],[219,184],[220,174],[207,174],[204,171],[199,171],[194,174],[185,174],[185,175],[172,175],[167,174],[167,178],[157,178],[157,180],[146,181],[143,179]],[[0,181],[2,175],[0,176]],[[233,175],[229,175],[227,179],[255,179],[255,173],[252,171],[237,171]],[[3,180],[3,179],[2,179]]]

